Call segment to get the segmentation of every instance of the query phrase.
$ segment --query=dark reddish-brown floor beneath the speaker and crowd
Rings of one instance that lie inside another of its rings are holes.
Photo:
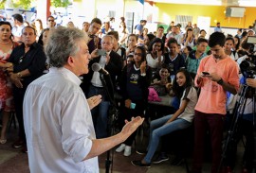
[[[14,149],[11,147],[11,144],[16,139],[17,130],[11,128],[8,134],[8,143],[5,145],[0,145],[0,172],[1,173],[28,173],[28,163],[27,163],[27,154],[22,153],[20,149]],[[137,147],[145,147],[147,140],[143,140],[140,143],[141,138],[138,135],[137,138]],[[244,147],[238,148],[238,164],[235,167],[234,173],[241,172],[241,158],[243,154]],[[170,161],[164,162],[162,164],[152,164],[150,168],[141,168],[136,167],[131,164],[132,160],[141,159],[143,156],[138,155],[133,152],[130,157],[125,157],[122,153],[117,153],[114,150],[110,151],[111,156],[113,156],[113,172],[114,173],[186,173],[185,164],[180,164],[179,166],[174,166],[170,164]],[[171,159],[174,157],[170,155]],[[99,163],[101,172],[105,171],[105,159],[106,153],[102,154],[99,157]],[[189,166],[192,165],[192,158],[188,158]],[[109,172],[112,172],[112,169],[109,169]],[[203,167],[203,173],[210,172],[210,162],[205,162]]]

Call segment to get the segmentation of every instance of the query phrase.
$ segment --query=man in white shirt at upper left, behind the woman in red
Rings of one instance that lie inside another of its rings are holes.
[[[13,14],[12,19],[13,19],[13,27],[12,27],[11,33],[14,36],[14,41],[21,43],[22,29],[24,28],[23,16],[21,14]]]

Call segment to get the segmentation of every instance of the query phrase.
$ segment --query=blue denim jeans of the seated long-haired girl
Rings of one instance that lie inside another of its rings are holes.
[[[173,114],[167,115],[159,119],[155,119],[150,123],[150,141],[148,146],[148,153],[144,158],[146,163],[151,163],[151,160],[155,154],[155,150],[158,147],[160,137],[174,132],[175,130],[187,129],[192,124],[187,120],[177,118],[173,122],[164,125],[172,116]]]

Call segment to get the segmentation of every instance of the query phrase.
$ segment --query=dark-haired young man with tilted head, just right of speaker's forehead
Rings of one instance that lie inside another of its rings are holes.
[[[97,35],[99,30],[101,29],[101,19],[94,18],[91,21],[89,30],[87,32],[89,36],[89,41],[87,43],[89,52],[92,53],[95,49],[101,49],[101,38]]]

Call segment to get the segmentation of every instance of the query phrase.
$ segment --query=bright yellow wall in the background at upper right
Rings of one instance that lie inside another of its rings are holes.
[[[210,26],[216,26],[214,21],[220,22],[222,27],[242,27],[252,26],[256,20],[256,8],[246,8],[243,18],[226,17],[224,6],[195,6],[155,3],[158,10],[158,22],[170,24],[175,21],[175,15],[192,16],[192,24],[197,23],[198,16],[210,17]]]

